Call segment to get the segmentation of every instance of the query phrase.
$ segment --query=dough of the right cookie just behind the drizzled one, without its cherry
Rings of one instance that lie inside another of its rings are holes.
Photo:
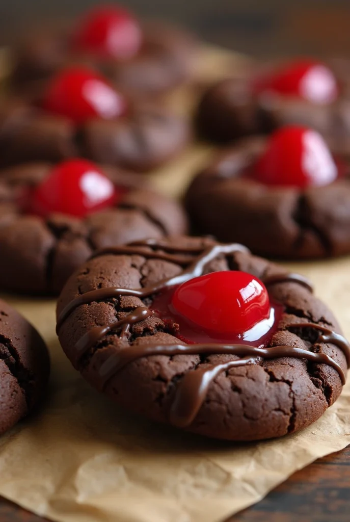
[[[264,184],[247,172],[267,147],[267,138],[247,138],[195,177],[185,198],[194,230],[220,241],[243,242],[270,257],[319,258],[350,252],[348,164],[343,164],[335,181],[322,186]],[[320,161],[322,165],[330,160],[322,153]]]

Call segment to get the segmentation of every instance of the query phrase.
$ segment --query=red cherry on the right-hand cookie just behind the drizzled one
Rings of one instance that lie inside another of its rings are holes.
[[[253,176],[267,185],[307,187],[327,185],[338,175],[322,136],[312,129],[288,126],[277,129],[259,158]]]

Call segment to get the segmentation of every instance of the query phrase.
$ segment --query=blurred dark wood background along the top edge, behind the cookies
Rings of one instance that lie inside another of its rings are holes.
[[[350,52],[349,0],[114,0],[172,20],[202,38],[256,55]],[[41,20],[66,19],[113,0],[0,0],[0,43]]]

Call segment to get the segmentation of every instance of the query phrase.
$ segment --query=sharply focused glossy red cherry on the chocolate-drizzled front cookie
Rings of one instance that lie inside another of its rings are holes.
[[[264,284],[240,271],[213,272],[181,284],[172,296],[172,306],[211,334],[243,339],[271,314]]]

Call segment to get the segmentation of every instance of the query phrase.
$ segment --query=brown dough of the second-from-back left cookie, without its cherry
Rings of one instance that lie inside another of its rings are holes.
[[[77,124],[21,99],[0,104],[0,165],[85,157],[139,172],[176,156],[189,140],[184,118],[161,106],[134,106],[124,117]]]

